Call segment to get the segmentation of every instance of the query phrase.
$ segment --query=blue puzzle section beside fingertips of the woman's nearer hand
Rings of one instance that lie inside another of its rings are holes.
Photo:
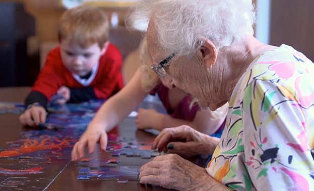
[[[81,168],[77,178],[79,180],[88,180],[90,177],[96,177],[98,180],[118,180],[121,183],[128,183],[129,180],[137,181],[140,171],[139,166],[119,166],[118,168],[98,169]]]

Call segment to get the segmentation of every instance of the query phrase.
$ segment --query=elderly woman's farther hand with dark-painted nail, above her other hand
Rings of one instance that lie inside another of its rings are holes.
[[[155,138],[153,149],[159,152],[177,153],[181,156],[212,154],[219,138],[200,133],[192,127],[182,125],[163,129]]]

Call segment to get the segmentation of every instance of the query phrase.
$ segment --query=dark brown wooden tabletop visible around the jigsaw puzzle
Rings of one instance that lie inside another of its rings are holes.
[[[30,87],[0,88],[0,102],[23,103],[29,90]],[[143,103],[141,107],[157,107],[158,110],[162,109],[162,106],[156,103]],[[17,114],[0,114],[0,151],[8,148],[9,141],[16,141],[18,139],[21,139],[21,133],[30,131],[29,128],[22,127],[22,125],[18,121],[18,117],[19,115]],[[142,130],[137,130],[135,125],[135,118],[132,117],[124,119],[116,128],[113,129],[113,131],[119,137],[135,139],[145,138],[147,140],[153,140],[158,133],[157,131],[146,132]],[[3,149],[1,150],[1,148]],[[87,157],[96,158],[98,160],[112,158],[110,153],[100,151],[99,147],[96,148],[96,151],[94,153],[88,154]],[[141,157],[127,157],[124,155],[120,155],[116,158],[121,160],[118,165],[127,166],[142,166],[143,164],[153,159],[153,157],[150,159],[144,159]],[[191,159],[191,161],[198,161],[199,165],[204,165],[204,161],[197,158]],[[81,166],[76,166],[75,164],[75,162],[71,162],[71,157],[68,155],[68,158],[62,160],[61,162],[51,161],[48,170],[46,170],[44,173],[28,174],[23,175],[23,177],[27,177],[25,181],[28,180],[28,178],[32,180],[36,178],[38,179],[38,183],[35,182],[36,185],[31,188],[34,190],[167,190],[159,186],[140,184],[137,181],[129,181],[129,183],[119,183],[116,180],[97,180],[94,177],[91,177],[89,180],[78,180],[77,176],[79,174],[79,169],[81,168]],[[21,165],[21,162],[17,160],[9,160],[8,158],[0,158],[1,168],[14,168],[14,166],[17,165]],[[38,165],[34,165],[33,167],[38,167]],[[21,176],[5,175],[1,173],[0,170],[0,190],[2,190],[1,186],[6,183],[6,177]],[[20,179],[17,180],[20,181]],[[36,186],[38,189],[35,189]],[[15,188],[16,187],[12,187],[12,190],[14,190]],[[23,188],[26,189],[25,187]]]

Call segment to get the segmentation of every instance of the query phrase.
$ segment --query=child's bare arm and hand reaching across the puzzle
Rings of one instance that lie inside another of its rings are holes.
[[[88,147],[89,153],[94,152],[98,142],[100,148],[105,151],[107,132],[127,117],[146,96],[147,92],[142,90],[141,73],[138,69],[131,81],[98,110],[80,140],[74,145],[72,160],[76,161],[82,158],[85,147]]]

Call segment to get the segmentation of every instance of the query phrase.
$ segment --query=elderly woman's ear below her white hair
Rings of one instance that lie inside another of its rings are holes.
[[[215,65],[218,51],[211,40],[204,39],[204,42],[199,48],[197,54],[202,60],[204,60],[206,67],[211,68]]]

